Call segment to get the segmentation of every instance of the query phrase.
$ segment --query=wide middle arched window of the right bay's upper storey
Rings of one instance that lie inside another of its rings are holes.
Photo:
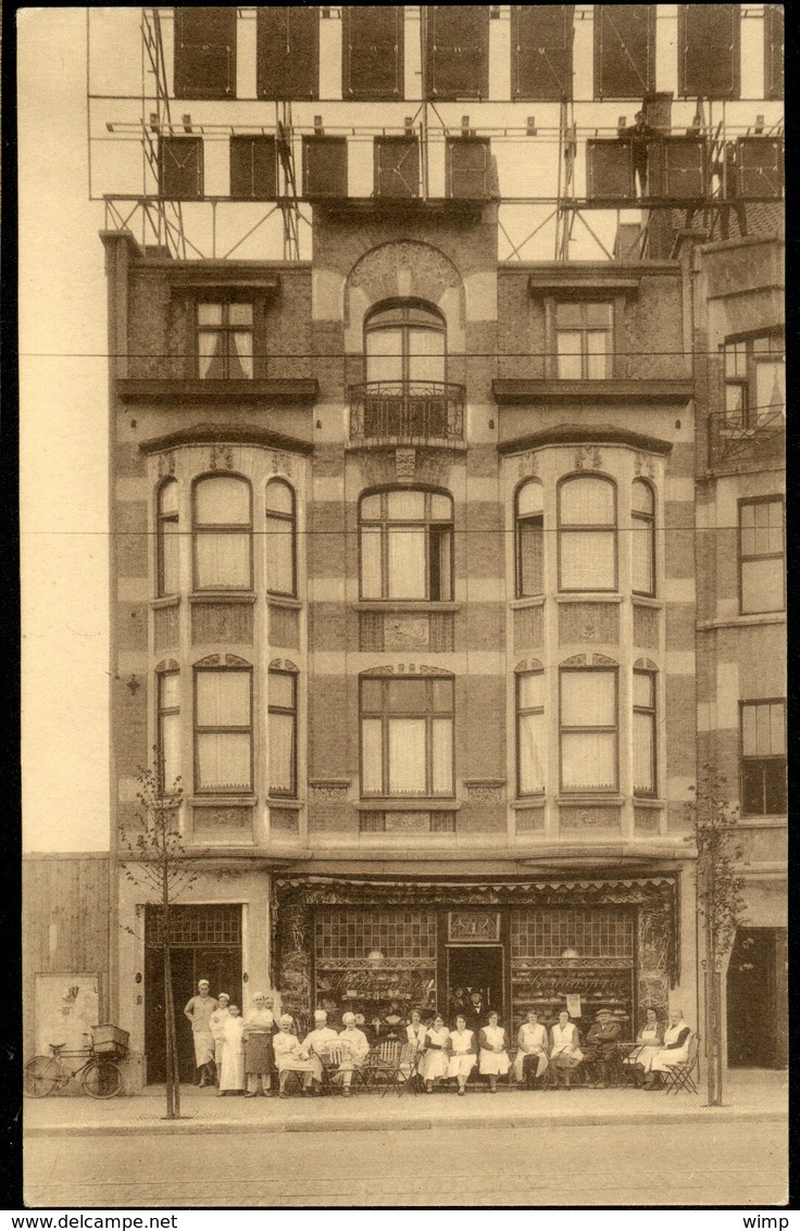
[[[559,485],[559,588],[617,590],[617,489],[601,475]]]

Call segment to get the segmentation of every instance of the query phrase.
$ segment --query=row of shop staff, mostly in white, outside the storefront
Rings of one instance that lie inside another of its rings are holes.
[[[497,1078],[510,1071],[519,1087],[534,1089],[550,1070],[553,1083],[570,1089],[571,1075],[578,1065],[586,1066],[594,1086],[612,1085],[623,1065],[636,1086],[656,1089],[661,1075],[683,1062],[688,1054],[690,1030],[679,1011],[673,1011],[665,1029],[656,1011],[649,1008],[635,1045],[623,1055],[620,1027],[609,1009],[598,1012],[582,1041],[565,1009],[548,1032],[537,1009],[530,1008],[519,1027],[512,1064],[510,1039],[497,1012],[489,1009],[481,1020],[481,1009],[480,995],[473,993],[469,1007],[455,1014],[453,1029],[441,1013],[426,1024],[418,1009],[411,1012],[405,1025],[405,1041],[414,1057],[409,1073],[428,1094],[437,1082],[455,1078],[463,1097],[475,1067],[489,1078],[491,1093],[497,1092]],[[321,1093],[324,1060],[331,1051],[336,1055],[334,1080],[348,1096],[353,1072],[364,1065],[372,1044],[356,1014],[345,1013],[343,1029],[337,1032],[329,1025],[325,1009],[316,1009],[314,1029],[300,1040],[289,1013],[276,1020],[271,997],[256,992],[249,1013],[242,1017],[225,992],[217,998],[210,996],[207,980],[199,981],[197,996],[192,996],[183,1012],[192,1023],[198,1085],[217,1085],[220,1096],[272,1097],[277,1075],[278,1093],[287,1097],[289,1073],[297,1075],[304,1093]]]

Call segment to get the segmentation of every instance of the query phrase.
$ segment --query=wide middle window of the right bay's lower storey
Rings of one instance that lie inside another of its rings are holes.
[[[617,790],[617,671],[561,670],[561,790]]]

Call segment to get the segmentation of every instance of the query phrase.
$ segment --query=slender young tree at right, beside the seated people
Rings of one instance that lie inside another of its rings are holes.
[[[705,1043],[709,1107],[722,1105],[721,970],[746,910],[743,880],[737,874],[737,806],[726,796],[725,778],[704,766],[694,799],[687,805],[698,847],[697,900],[705,958]]]

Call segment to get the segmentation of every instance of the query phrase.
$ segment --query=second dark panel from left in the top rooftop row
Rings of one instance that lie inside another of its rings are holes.
[[[316,6],[256,9],[256,41],[260,98],[319,98]]]

